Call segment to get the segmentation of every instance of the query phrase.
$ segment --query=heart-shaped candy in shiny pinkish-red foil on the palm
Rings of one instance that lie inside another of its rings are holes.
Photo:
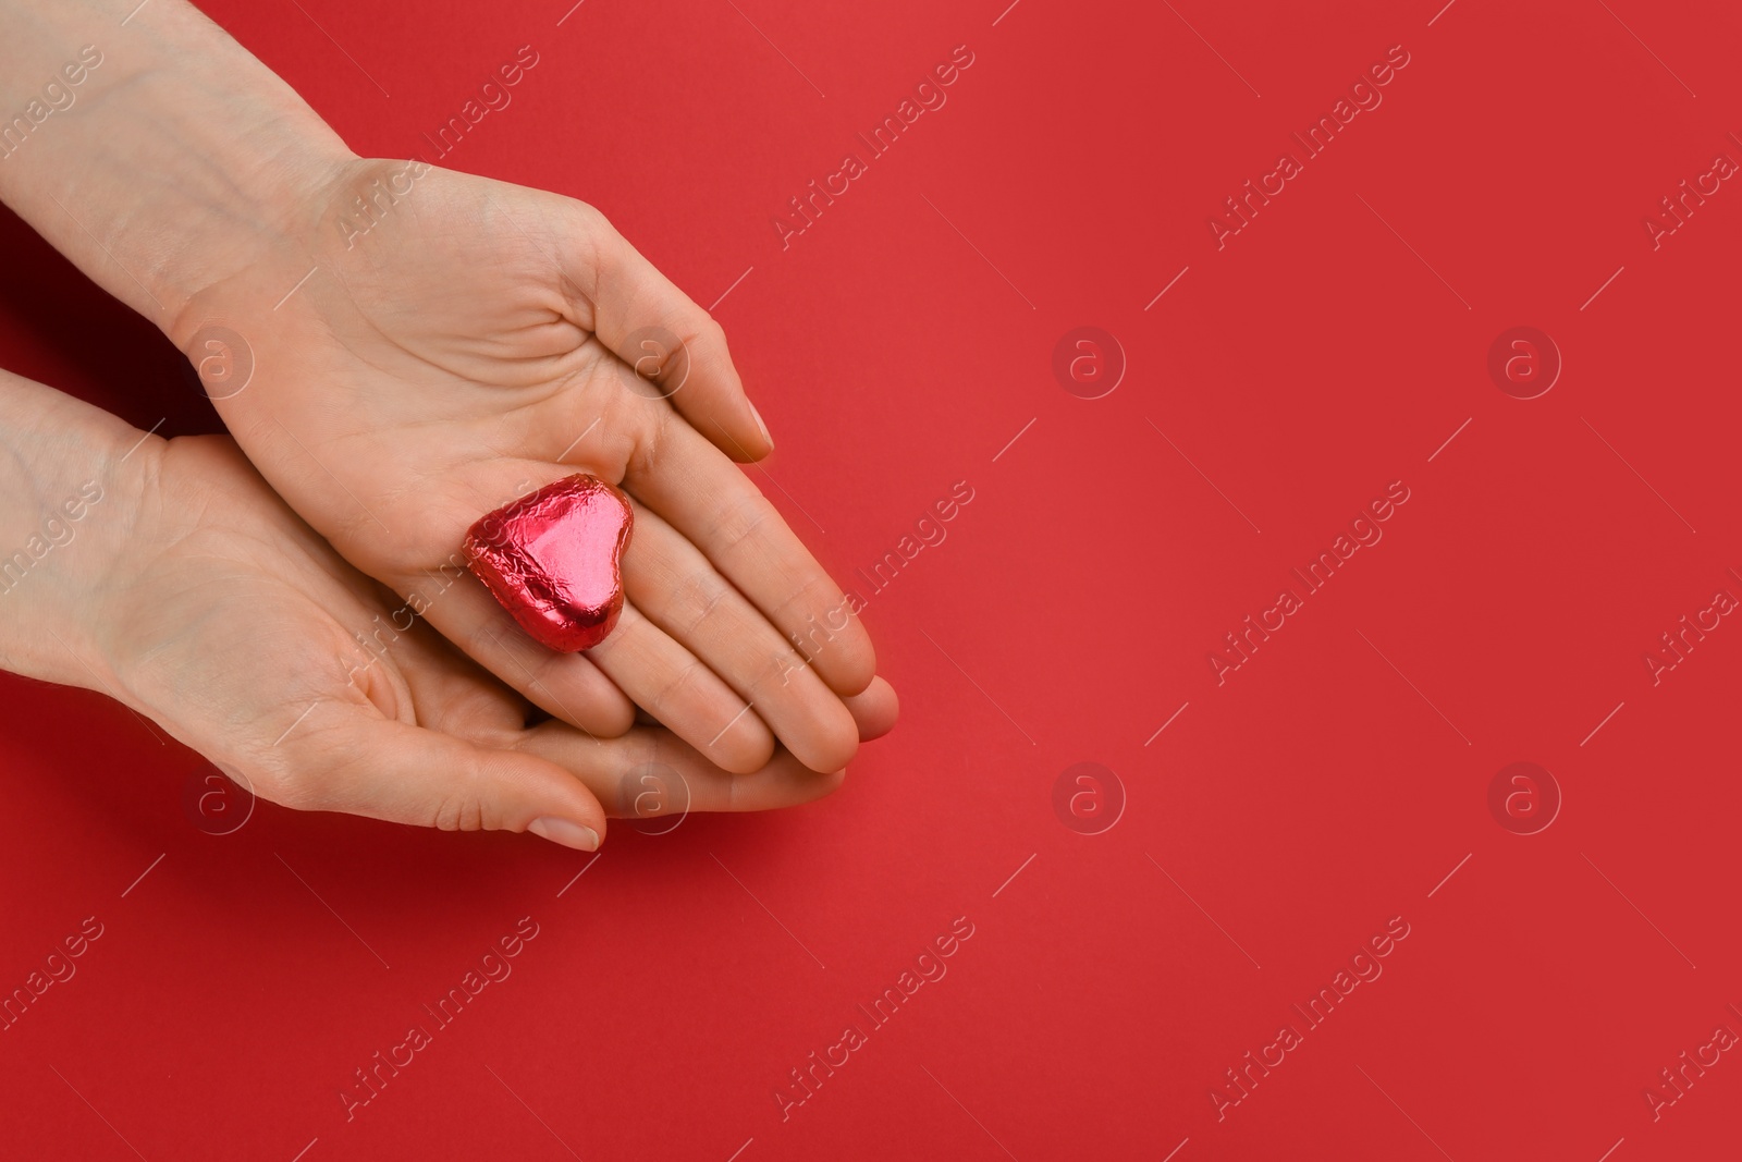
[[[563,653],[591,650],[624,611],[618,563],[634,521],[627,497],[582,472],[481,517],[465,556],[526,632]]]

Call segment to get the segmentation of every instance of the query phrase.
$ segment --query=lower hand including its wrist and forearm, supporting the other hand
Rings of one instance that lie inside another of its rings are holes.
[[[120,699],[261,798],[592,850],[606,815],[650,803],[760,810],[840,786],[784,751],[726,774],[657,726],[530,726],[519,695],[340,559],[230,439],[145,437],[3,373],[0,399],[0,531],[28,559],[0,594],[0,659]],[[650,765],[667,796],[639,794]]]

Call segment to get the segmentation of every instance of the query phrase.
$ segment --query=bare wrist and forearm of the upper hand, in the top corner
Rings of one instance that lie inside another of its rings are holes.
[[[207,287],[296,265],[310,199],[354,155],[221,28],[183,0],[120,33],[98,0],[7,21],[0,117],[42,120],[5,139],[0,199],[56,249],[172,336]]]

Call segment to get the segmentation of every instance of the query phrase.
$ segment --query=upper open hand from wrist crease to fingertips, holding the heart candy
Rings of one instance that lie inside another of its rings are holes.
[[[585,732],[617,735],[639,706],[725,770],[763,770],[777,746],[841,770],[855,718],[892,719],[894,692],[841,589],[733,463],[772,441],[707,312],[573,199],[354,159],[324,188],[273,258],[171,326],[273,488]],[[617,629],[559,655],[458,551],[479,516],[577,470],[627,491],[636,530]]]

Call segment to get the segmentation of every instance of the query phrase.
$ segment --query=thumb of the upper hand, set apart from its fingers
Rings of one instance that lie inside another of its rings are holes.
[[[773,451],[726,350],[726,333],[641,256],[603,214],[573,202],[571,267],[591,265],[592,333],[730,456]]]

